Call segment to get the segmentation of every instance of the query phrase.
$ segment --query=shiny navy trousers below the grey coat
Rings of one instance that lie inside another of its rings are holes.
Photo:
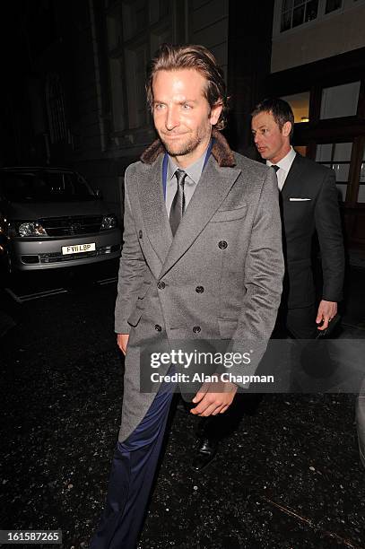
[[[135,549],[143,527],[169,407],[171,384],[162,384],[135,431],[117,443],[100,525],[90,549]]]

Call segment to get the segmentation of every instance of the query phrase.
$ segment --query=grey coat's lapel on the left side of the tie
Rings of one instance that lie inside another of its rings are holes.
[[[169,218],[163,198],[162,160],[160,154],[152,165],[142,164],[138,175],[138,196],[143,214],[143,222],[152,248],[164,263],[172,242]]]

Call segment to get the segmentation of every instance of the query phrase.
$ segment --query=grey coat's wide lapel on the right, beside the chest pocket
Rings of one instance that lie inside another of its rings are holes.
[[[239,174],[240,170],[238,169],[221,168],[213,156],[210,156],[195,193],[187,206],[187,211],[178,226],[175,238],[172,240],[169,253],[162,266],[161,276],[169,271],[196,240],[199,233],[203,231]],[[169,220],[167,222],[169,224]],[[171,233],[169,232],[169,234]]]

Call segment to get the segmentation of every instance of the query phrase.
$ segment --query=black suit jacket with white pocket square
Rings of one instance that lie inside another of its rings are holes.
[[[322,299],[341,301],[343,233],[334,171],[297,153],[280,198],[286,262],[282,304],[288,309],[296,309],[307,307],[315,301],[312,274],[315,231],[322,259]]]

